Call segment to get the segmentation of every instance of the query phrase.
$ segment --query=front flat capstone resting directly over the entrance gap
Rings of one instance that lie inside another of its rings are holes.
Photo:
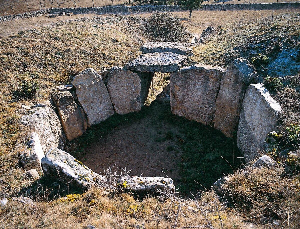
[[[175,72],[186,59],[187,56],[170,52],[146,53],[127,63],[126,68],[138,72]]]

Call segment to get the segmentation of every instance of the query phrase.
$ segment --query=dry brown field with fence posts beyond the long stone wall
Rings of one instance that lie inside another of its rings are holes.
[[[56,8],[58,7],[56,0],[42,0],[41,1],[46,8]],[[92,0],[75,0],[76,7],[92,7]],[[155,5],[160,5],[160,1],[154,1]],[[251,3],[272,3],[276,0],[252,0]],[[299,2],[299,0],[278,0],[278,2]],[[29,12],[27,4],[30,11],[37,11],[40,9],[40,1],[38,0],[0,0],[0,16],[13,14],[11,6],[16,14]],[[225,0],[224,4],[244,4],[249,3],[248,0]],[[75,7],[73,0],[59,0],[58,4],[61,8]],[[94,0],[95,7],[100,6],[110,6],[110,5],[127,5],[131,6],[129,0]],[[140,1],[134,0],[133,5],[139,5]],[[204,1],[203,4],[223,4],[223,0],[209,0]]]

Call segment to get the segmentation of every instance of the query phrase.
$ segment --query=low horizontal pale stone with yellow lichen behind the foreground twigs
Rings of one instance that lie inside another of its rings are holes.
[[[122,188],[136,192],[174,191],[173,180],[160,176],[128,176],[120,180]]]

